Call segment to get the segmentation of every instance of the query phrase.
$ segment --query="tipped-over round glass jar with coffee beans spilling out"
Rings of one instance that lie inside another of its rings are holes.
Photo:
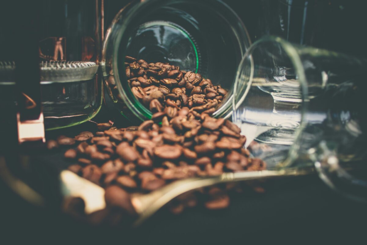
[[[123,116],[131,121],[150,119],[152,113],[129,87],[125,56],[148,63],[168,62],[227,89],[213,116],[228,117],[237,66],[249,45],[246,27],[222,1],[133,1],[120,10],[106,32],[103,79]]]

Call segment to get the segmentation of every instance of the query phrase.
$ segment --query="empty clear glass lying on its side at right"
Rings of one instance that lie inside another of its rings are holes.
[[[258,40],[234,88],[232,118],[246,147],[270,168],[315,164],[327,184],[365,198],[366,67],[366,60],[280,37]],[[358,179],[351,169],[359,169]]]

